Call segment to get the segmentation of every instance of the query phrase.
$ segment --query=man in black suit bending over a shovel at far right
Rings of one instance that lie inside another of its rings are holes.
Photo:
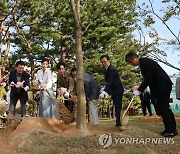
[[[173,84],[169,76],[157,62],[149,58],[139,58],[134,52],[128,53],[125,59],[129,64],[139,66],[144,78],[140,87],[134,91],[134,95],[139,95],[139,92],[143,92],[147,86],[150,88],[152,103],[158,114],[162,116],[165,125],[165,130],[161,132],[161,135],[164,137],[177,135],[175,117],[169,108]]]

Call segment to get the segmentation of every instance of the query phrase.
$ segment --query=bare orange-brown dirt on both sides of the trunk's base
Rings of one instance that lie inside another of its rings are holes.
[[[93,126],[87,124],[87,135],[102,133],[119,133],[119,129],[104,125]],[[33,134],[45,133],[58,136],[83,136],[76,128],[76,123],[64,124],[63,121],[55,118],[28,117],[13,120],[4,130],[0,132],[0,153],[16,153],[34,137]]]

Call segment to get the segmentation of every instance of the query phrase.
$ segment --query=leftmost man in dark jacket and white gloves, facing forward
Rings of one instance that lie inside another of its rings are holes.
[[[9,111],[15,115],[17,101],[20,100],[21,117],[26,116],[26,102],[28,100],[29,74],[24,71],[24,62],[18,61],[16,67],[10,72],[9,84],[11,86]]]

